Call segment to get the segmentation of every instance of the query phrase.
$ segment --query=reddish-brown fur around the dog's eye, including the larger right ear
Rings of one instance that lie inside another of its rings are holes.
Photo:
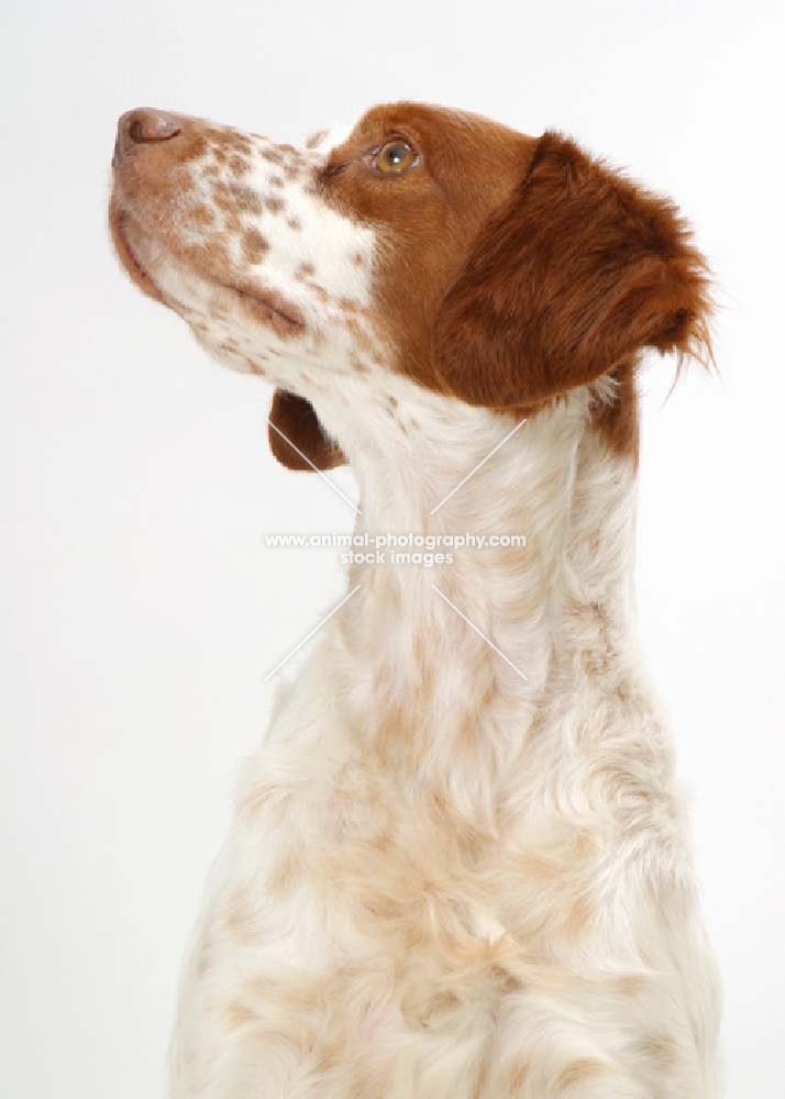
[[[419,157],[394,176],[372,167],[390,134]],[[635,454],[638,352],[710,354],[708,274],[673,204],[557,134],[374,108],[321,187],[377,227],[375,312],[396,367],[429,388],[524,414],[613,371],[594,423]]]

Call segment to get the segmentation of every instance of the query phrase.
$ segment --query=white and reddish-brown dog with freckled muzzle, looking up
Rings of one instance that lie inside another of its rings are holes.
[[[275,457],[349,462],[362,536],[487,537],[357,555],[279,689],[172,1095],[714,1097],[632,590],[641,356],[709,357],[688,225],[568,137],[411,102],[303,148],[139,109],[112,163],[123,267],[274,387]]]

